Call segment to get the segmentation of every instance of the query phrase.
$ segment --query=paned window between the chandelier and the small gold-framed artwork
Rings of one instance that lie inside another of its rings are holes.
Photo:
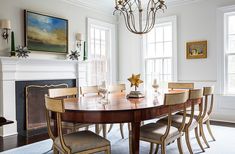
[[[157,23],[144,37],[145,87],[151,88],[157,79],[161,88],[176,80],[176,17]]]

